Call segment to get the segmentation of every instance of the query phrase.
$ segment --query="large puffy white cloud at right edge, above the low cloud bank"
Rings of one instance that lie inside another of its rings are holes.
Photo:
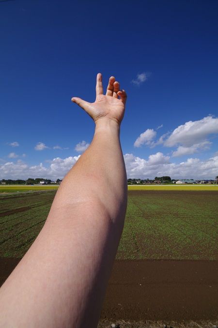
[[[199,121],[189,121],[179,125],[164,141],[164,146],[173,147],[180,144],[190,147],[205,141],[209,135],[215,133],[218,133],[218,118],[207,116]]]

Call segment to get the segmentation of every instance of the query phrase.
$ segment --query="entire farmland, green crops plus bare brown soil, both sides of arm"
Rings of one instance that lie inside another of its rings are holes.
[[[43,227],[56,193],[49,187],[0,197],[1,283]],[[102,318],[216,319],[217,189],[136,187],[128,191],[125,227]]]

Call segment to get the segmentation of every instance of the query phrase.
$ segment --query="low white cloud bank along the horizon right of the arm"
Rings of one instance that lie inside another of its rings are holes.
[[[186,162],[171,163],[169,156],[162,153],[150,155],[148,160],[125,154],[125,166],[128,178],[154,178],[170,175],[177,179],[214,179],[218,175],[218,156],[206,160],[188,158]]]

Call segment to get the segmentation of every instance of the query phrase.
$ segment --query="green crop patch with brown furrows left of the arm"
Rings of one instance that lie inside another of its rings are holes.
[[[0,257],[23,257],[42,229],[54,196],[55,191],[42,190],[0,198]]]

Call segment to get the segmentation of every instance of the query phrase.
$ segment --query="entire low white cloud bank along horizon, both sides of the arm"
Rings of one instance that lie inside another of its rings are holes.
[[[0,164],[0,179],[27,179],[42,177],[51,180],[62,177],[73,167],[79,156],[54,158],[47,166],[42,163],[30,166],[21,159]],[[177,179],[214,179],[218,175],[218,156],[206,160],[188,158],[185,162],[172,163],[169,156],[158,152],[147,159],[125,154],[125,166],[128,178],[154,178],[170,175]]]

